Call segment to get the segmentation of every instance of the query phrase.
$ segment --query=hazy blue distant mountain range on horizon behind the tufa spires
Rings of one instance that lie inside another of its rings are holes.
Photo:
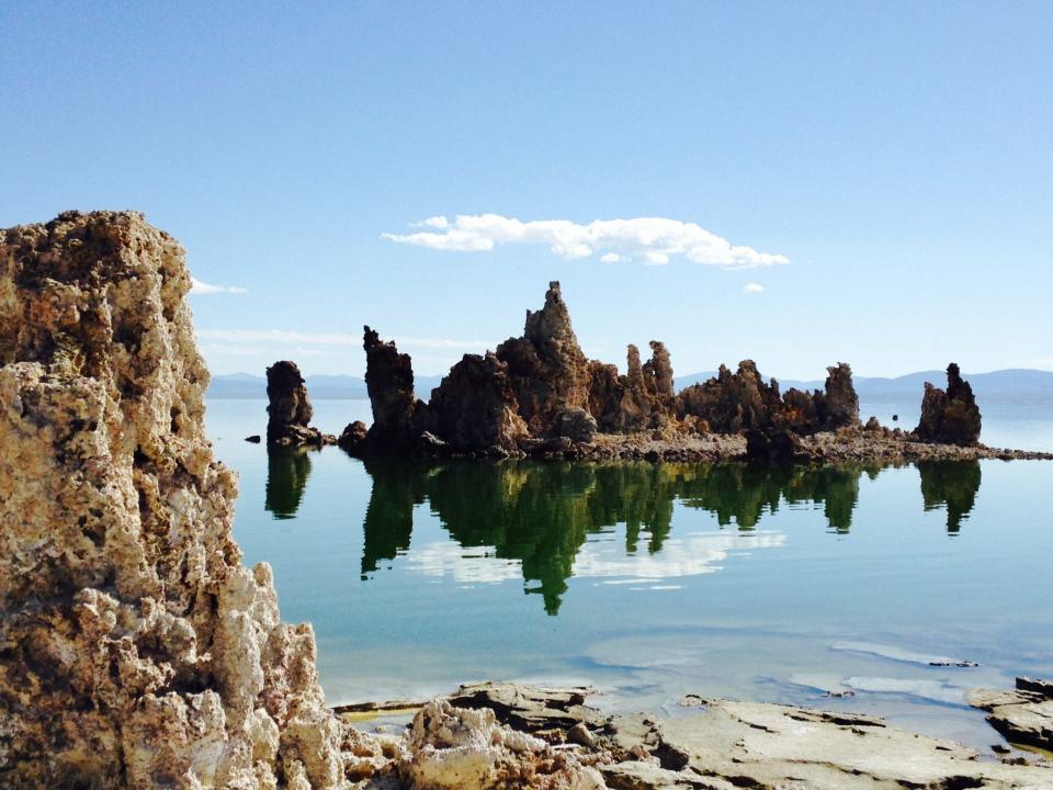
[[[677,390],[682,390],[697,382],[703,382],[715,373],[691,373],[677,376]],[[966,373],[966,381],[973,385],[976,397],[994,400],[1011,397],[1014,399],[1053,399],[1053,372],[1012,369],[994,371],[993,373]],[[314,399],[344,400],[367,397],[365,381],[356,376],[347,375],[312,375],[306,376],[307,392]],[[418,395],[428,397],[432,388],[439,386],[442,376],[417,376],[416,390]],[[823,379],[815,381],[793,381],[779,379],[779,386],[783,392],[790,387],[799,390],[820,390]],[[880,379],[871,376],[856,376],[856,391],[864,400],[914,400],[921,399],[925,382],[937,386],[947,384],[943,371],[924,371],[907,373],[896,379]],[[217,399],[250,399],[267,398],[267,380],[263,376],[248,373],[231,373],[215,375],[208,385],[207,397]]]

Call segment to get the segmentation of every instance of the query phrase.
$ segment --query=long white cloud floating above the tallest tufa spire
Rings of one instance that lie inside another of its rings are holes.
[[[411,227],[427,227],[409,234],[382,234],[397,244],[415,245],[456,252],[486,252],[498,245],[547,245],[553,255],[566,260],[589,258],[604,252],[600,260],[639,260],[663,266],[682,256],[692,263],[727,269],[789,263],[783,255],[758,252],[752,247],[731,244],[695,223],[664,217],[597,219],[580,225],[569,219],[522,222],[499,214],[429,217]],[[615,256],[616,258],[612,258]]]

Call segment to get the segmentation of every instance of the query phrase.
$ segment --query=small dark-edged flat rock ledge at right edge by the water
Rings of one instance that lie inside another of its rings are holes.
[[[973,689],[965,701],[1007,741],[1053,752],[1053,681],[1018,677],[1014,690]]]

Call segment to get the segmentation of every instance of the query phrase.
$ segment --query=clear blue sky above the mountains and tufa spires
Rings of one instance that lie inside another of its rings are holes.
[[[554,279],[620,365],[1053,369],[1048,2],[5,2],[0,35],[0,226],[143,211],[245,290],[192,297],[214,372],[360,374],[370,324],[439,373]],[[590,225],[638,217],[671,222]]]

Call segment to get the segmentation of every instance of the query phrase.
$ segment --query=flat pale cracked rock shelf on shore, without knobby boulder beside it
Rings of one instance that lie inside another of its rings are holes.
[[[684,701],[693,711],[670,719],[604,715],[584,704],[588,691],[479,684],[462,687],[449,702],[491,712],[501,725],[567,749],[612,789],[1053,787],[1049,763],[982,760],[961,744],[874,716],[697,696]],[[490,726],[486,716],[474,729]]]

